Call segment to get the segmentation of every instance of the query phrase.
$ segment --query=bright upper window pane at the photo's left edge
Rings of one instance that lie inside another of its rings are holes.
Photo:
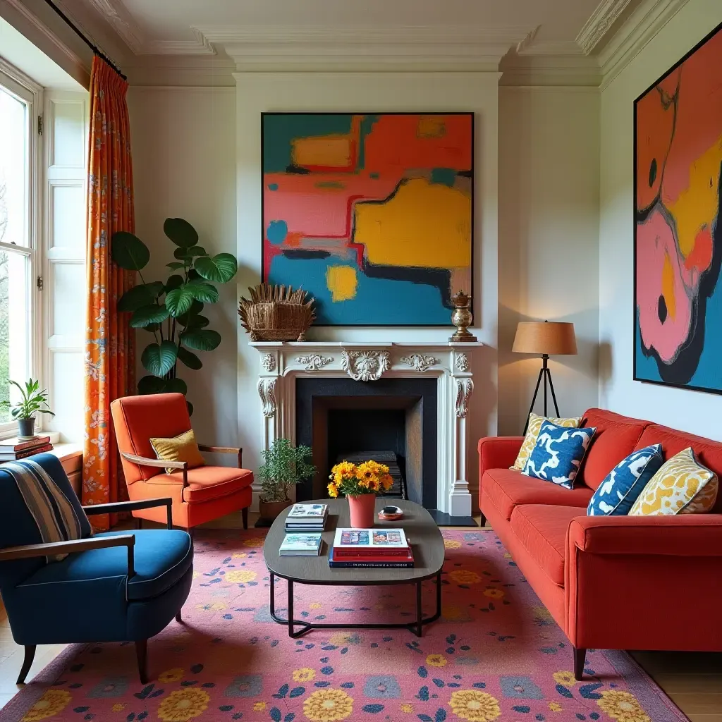
[[[0,241],[27,245],[27,105],[0,86]]]

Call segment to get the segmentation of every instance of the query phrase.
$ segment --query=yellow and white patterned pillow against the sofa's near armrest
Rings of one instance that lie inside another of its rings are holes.
[[[710,511],[717,500],[718,479],[702,466],[692,448],[665,461],[647,482],[629,516],[673,516]]]

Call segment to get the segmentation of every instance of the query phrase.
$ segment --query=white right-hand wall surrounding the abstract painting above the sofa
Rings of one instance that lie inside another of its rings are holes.
[[[632,103],[720,22],[719,0],[690,0],[601,95],[599,396],[607,409],[722,440],[720,396],[632,380]]]

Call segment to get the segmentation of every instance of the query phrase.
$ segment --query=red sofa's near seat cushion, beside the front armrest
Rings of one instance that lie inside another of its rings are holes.
[[[529,557],[557,586],[564,586],[567,529],[584,510],[568,506],[523,505],[514,509],[510,526]]]

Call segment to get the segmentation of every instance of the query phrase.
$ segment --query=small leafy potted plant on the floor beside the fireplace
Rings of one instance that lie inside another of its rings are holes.
[[[261,496],[258,513],[264,521],[272,521],[287,506],[291,487],[316,473],[316,466],[308,459],[313,451],[308,446],[292,446],[288,439],[276,439],[265,451],[261,451],[264,463],[258,469],[261,479]]]

